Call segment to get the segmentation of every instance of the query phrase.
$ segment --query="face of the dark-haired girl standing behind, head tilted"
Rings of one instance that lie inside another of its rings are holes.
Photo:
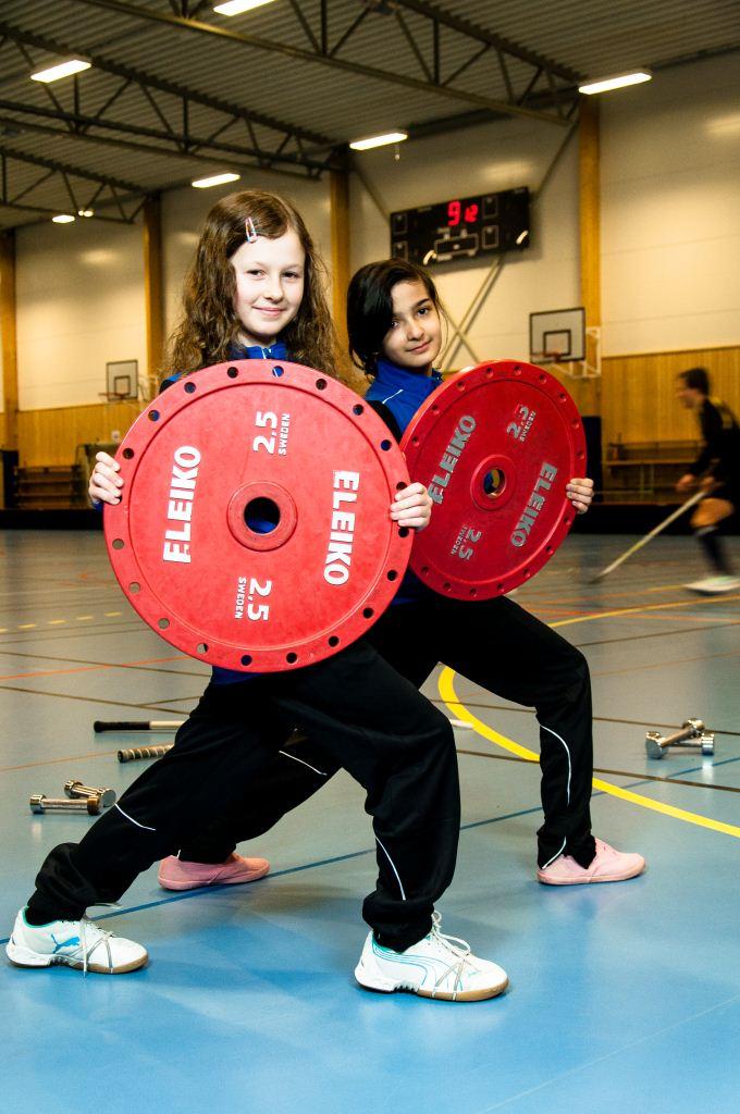
[[[383,336],[383,355],[407,371],[431,374],[442,346],[437,306],[421,280],[396,283],[390,296],[393,320]]]

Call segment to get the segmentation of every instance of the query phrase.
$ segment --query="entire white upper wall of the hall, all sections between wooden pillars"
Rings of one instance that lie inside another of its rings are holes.
[[[606,355],[740,342],[740,57],[660,72],[602,98],[603,322]],[[358,155],[388,211],[456,194],[536,189],[565,131],[502,120]],[[274,189],[303,213],[330,256],[329,182],[254,172],[240,188]],[[225,187],[226,193],[231,187]],[[217,190],[163,196],[166,330],[198,229]],[[352,176],[352,266],[388,255],[377,206]],[[489,257],[490,258],[490,257]],[[459,320],[489,261],[434,272]],[[84,404],[105,365],[145,369],[140,225],[77,221],[20,228],[17,238],[21,409]],[[512,255],[477,320],[480,359],[526,356],[528,315],[580,302],[577,138],[533,209],[533,246]],[[454,365],[471,362],[465,350]]]

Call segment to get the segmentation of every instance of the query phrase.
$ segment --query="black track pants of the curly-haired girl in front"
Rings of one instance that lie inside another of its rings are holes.
[[[225,822],[235,789],[253,781],[261,797],[260,776],[293,724],[320,737],[332,768],[343,766],[367,791],[378,883],[364,900],[364,919],[389,947],[415,944],[455,869],[455,741],[447,717],[364,639],[304,670],[210,685],[173,750],[79,844],[51,851],[29,902],[31,919],[77,919],[90,905],[118,900],[194,831],[220,817]]]

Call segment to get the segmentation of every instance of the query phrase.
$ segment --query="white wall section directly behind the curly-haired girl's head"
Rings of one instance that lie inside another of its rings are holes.
[[[288,197],[303,217],[305,225],[324,257],[327,270],[331,261],[329,179],[314,182],[255,170],[240,182],[214,189],[174,189],[162,198],[162,237],[165,285],[165,332],[169,333],[179,319],[183,278],[198,242],[201,227],[208,209],[235,189],[269,189]]]

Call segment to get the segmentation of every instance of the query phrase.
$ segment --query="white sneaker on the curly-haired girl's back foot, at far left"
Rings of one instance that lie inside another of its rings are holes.
[[[16,967],[64,964],[99,975],[135,971],[149,958],[140,944],[105,932],[87,917],[81,920],[52,920],[37,926],[26,920],[26,909],[21,909],[16,917],[6,951]]]

